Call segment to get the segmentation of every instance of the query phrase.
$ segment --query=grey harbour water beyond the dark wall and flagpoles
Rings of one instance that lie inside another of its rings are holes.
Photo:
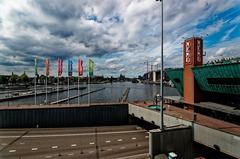
[[[49,86],[56,87],[56,86]],[[86,89],[80,90],[79,94],[84,94],[88,92],[87,84],[80,84],[80,87],[86,87]],[[143,101],[143,100],[154,100],[154,96],[159,94],[159,85],[155,84],[143,84],[143,83],[131,83],[131,82],[116,82],[116,83],[105,83],[105,84],[91,84],[89,86],[91,90],[97,90],[100,88],[105,88],[99,92],[94,92],[90,94],[91,103],[108,103],[108,102],[119,102],[119,99],[122,97],[124,91],[127,88],[130,88],[128,101]],[[45,88],[43,88],[44,90]],[[34,90],[32,90],[34,91]],[[6,92],[6,91],[5,91]],[[178,92],[175,88],[165,87],[164,93],[166,96],[178,96]],[[70,97],[77,95],[78,90],[70,90]],[[44,105],[45,94],[37,96],[37,104]],[[59,93],[59,100],[68,97],[68,91]],[[48,94],[48,100],[54,102],[57,100],[57,93]],[[88,95],[79,97],[81,104],[88,103]],[[67,102],[64,102],[65,104]],[[78,98],[70,100],[70,104],[77,104]],[[25,104],[34,104],[34,96],[26,97],[16,100],[10,100],[5,102],[0,102],[1,106],[11,106],[11,105],[25,105]]]

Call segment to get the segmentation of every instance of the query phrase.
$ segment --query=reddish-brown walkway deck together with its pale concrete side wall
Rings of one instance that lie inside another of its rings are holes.
[[[147,122],[160,124],[160,114],[158,111],[148,109],[145,106],[149,103],[129,103],[129,114]],[[173,127],[178,125],[191,126],[195,142],[206,145],[213,149],[240,158],[240,126],[222,120],[214,119],[201,114],[196,114],[187,110],[165,105],[164,125]]]

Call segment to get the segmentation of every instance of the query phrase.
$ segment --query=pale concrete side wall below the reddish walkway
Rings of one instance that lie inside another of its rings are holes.
[[[160,113],[142,108],[133,104],[129,104],[129,114],[134,115],[139,119],[143,119],[150,123],[155,123],[159,126]],[[195,122],[180,119],[174,116],[164,114],[164,124],[167,127],[174,125],[186,125],[193,127],[194,141],[211,147],[213,149],[219,149],[219,151],[228,154],[230,156],[240,158],[240,136],[230,134],[224,131],[216,130],[204,125],[200,125]]]

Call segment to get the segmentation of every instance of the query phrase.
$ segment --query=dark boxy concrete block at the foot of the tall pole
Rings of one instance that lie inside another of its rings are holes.
[[[193,159],[192,128],[189,126],[176,126],[151,130],[149,132],[149,155],[152,159],[159,158],[159,154],[171,155],[173,152],[177,159]]]

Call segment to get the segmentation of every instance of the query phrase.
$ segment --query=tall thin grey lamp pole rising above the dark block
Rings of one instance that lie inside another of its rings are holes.
[[[161,80],[160,80],[160,129],[163,130],[163,0],[156,0],[156,1],[160,1],[161,3],[161,11],[162,11],[162,15],[161,15],[161,23],[162,23],[162,32],[161,32]]]

